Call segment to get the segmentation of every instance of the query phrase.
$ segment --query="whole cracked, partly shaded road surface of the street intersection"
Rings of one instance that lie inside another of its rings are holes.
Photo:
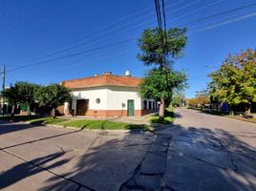
[[[0,123],[0,190],[256,190],[256,125],[177,109],[155,133]]]

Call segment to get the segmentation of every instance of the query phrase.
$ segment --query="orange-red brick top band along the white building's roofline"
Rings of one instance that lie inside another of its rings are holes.
[[[62,81],[61,84],[70,89],[88,88],[105,85],[138,87],[140,81],[141,78],[139,77],[101,74],[92,77],[65,80]]]

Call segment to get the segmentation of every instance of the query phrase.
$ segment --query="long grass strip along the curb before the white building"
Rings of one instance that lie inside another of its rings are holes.
[[[0,120],[8,121],[27,121],[36,125],[60,125],[63,127],[75,127],[79,129],[105,129],[105,130],[152,130],[148,125],[137,125],[124,122],[112,122],[109,120],[89,120],[89,119],[67,119],[60,117],[29,117],[29,116],[16,116],[16,117],[0,117]]]

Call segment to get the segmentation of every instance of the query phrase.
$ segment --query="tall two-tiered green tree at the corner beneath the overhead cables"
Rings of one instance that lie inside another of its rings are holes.
[[[165,100],[170,99],[176,86],[183,84],[181,78],[186,79],[184,74],[175,74],[172,69],[172,64],[181,57],[186,46],[186,29],[170,29],[164,38],[163,33],[165,32],[158,28],[146,29],[142,32],[138,43],[141,51],[138,54],[139,60],[146,66],[156,67],[142,80],[140,94],[145,98],[160,100],[160,120],[164,117]]]

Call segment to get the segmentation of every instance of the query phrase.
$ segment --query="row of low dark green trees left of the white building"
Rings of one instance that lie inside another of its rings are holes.
[[[43,114],[52,111],[55,117],[56,108],[72,98],[71,91],[59,84],[40,86],[29,82],[16,82],[3,90],[1,96],[11,106],[11,116],[14,116],[19,106],[26,105],[28,115],[32,115],[32,112]]]

